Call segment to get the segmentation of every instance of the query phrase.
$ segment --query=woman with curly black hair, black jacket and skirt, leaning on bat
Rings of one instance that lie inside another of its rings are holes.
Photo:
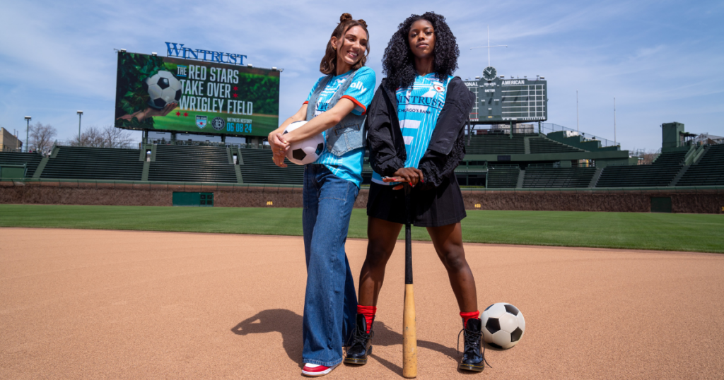
[[[367,257],[358,290],[357,329],[346,363],[364,364],[384,269],[409,218],[426,227],[460,307],[465,350],[459,368],[482,371],[475,279],[463,250],[460,220],[466,216],[453,172],[465,155],[463,127],[475,96],[459,77],[458,43],[445,17],[427,12],[408,17],[392,35],[382,67],[387,77],[366,120],[374,169],[367,203]],[[410,210],[401,183],[412,186]]]

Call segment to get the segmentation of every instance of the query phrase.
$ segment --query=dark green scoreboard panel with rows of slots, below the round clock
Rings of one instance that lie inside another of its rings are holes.
[[[473,124],[543,122],[548,119],[548,88],[542,79],[464,80],[475,94],[470,113]]]

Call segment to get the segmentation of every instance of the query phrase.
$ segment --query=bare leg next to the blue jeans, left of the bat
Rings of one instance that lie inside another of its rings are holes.
[[[369,217],[367,220],[367,257],[360,272],[358,303],[364,306],[376,306],[379,290],[384,281],[384,268],[395,249],[397,236],[403,225]]]

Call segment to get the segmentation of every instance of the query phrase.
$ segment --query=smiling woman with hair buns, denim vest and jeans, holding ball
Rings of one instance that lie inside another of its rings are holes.
[[[374,95],[374,71],[364,64],[369,33],[364,20],[342,14],[307,101],[269,134],[274,164],[286,167],[291,143],[324,134],[319,159],[304,166],[302,224],[307,263],[302,374],[323,376],[342,363],[342,345],[355,329],[357,296],[345,240],[362,182],[363,123]],[[284,133],[292,122],[306,120]]]

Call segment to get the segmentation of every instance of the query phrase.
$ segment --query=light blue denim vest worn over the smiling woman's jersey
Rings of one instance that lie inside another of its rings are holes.
[[[355,72],[357,71],[355,70],[350,72],[350,75],[348,75],[345,83],[342,83],[337,92],[334,93],[334,96],[329,99],[329,107],[327,109],[332,109],[332,107],[337,104],[337,101],[340,101],[342,95],[345,94],[345,91],[350,87],[350,84],[352,84],[352,78],[354,77]],[[307,106],[307,121],[314,117],[314,111],[316,111],[316,103],[319,99],[319,94],[327,87],[327,83],[329,83],[329,80],[331,80],[332,77],[334,77],[334,75],[331,74],[324,77],[324,79],[319,82],[316,90],[312,93],[312,96],[309,98],[309,104]],[[329,128],[327,130],[327,139],[324,142],[324,145],[327,145],[327,151],[334,154],[334,156],[341,157],[349,151],[362,148],[364,146],[362,129],[365,117],[366,116],[357,116],[350,112],[344,119],[342,119],[342,121],[340,121],[339,124]]]

